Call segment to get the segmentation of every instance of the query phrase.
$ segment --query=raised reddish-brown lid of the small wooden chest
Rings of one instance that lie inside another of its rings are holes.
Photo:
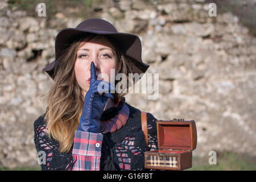
[[[172,150],[195,150],[197,144],[194,120],[172,119],[156,121],[158,148]]]

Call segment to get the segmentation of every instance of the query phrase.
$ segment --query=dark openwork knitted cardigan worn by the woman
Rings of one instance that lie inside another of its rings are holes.
[[[141,110],[127,104],[125,98],[122,99],[122,104],[118,107],[110,107],[102,114],[101,119],[107,120],[114,117],[118,113],[118,110],[122,108],[122,105],[126,104],[130,109],[129,118],[127,123],[121,129],[114,131],[113,133],[103,134],[101,147],[101,159],[100,170],[101,171],[118,171],[123,170],[118,166],[119,160],[117,157],[118,148],[121,148],[122,153],[126,153],[130,158],[131,170],[146,170],[143,167],[144,164],[144,151],[157,150],[157,138],[156,138],[156,119],[150,113],[147,113],[147,125],[148,125],[148,146],[144,139],[142,127],[141,127]],[[40,140],[38,134],[42,132],[42,128],[46,126],[44,115],[41,115],[34,122],[35,137],[34,142],[36,150],[46,152],[46,155],[51,153],[51,162],[49,166],[46,164],[40,164],[42,170],[67,170],[72,165],[72,148],[67,153],[61,153],[59,148],[59,142],[54,139],[49,139],[47,135],[44,135]],[[134,138],[134,146],[129,145],[129,138]],[[124,142],[125,141],[125,142]],[[44,147],[42,147],[44,146]],[[47,146],[47,147],[46,147]],[[48,149],[46,149],[48,148]],[[132,151],[133,150],[133,151]],[[134,155],[136,150],[137,155]]]

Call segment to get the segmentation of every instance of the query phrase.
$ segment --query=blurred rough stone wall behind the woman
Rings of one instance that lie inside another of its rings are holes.
[[[46,17],[36,11],[41,2]],[[212,2],[217,16],[209,16]],[[254,0],[0,0],[0,169],[39,169],[33,123],[53,84],[42,69],[55,59],[57,33],[88,18],[141,38],[147,73],[159,73],[159,97],[126,100],[157,119],[196,121],[192,169],[256,169],[255,7]]]

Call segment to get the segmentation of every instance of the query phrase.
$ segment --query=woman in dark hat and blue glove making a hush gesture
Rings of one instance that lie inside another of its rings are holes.
[[[34,122],[42,170],[144,170],[143,152],[157,149],[156,119],[147,113],[146,146],[141,111],[125,102],[126,93],[113,93],[119,80],[111,80],[111,70],[146,72],[141,50],[137,35],[103,19],[59,32],[55,60],[43,69],[55,83]]]

